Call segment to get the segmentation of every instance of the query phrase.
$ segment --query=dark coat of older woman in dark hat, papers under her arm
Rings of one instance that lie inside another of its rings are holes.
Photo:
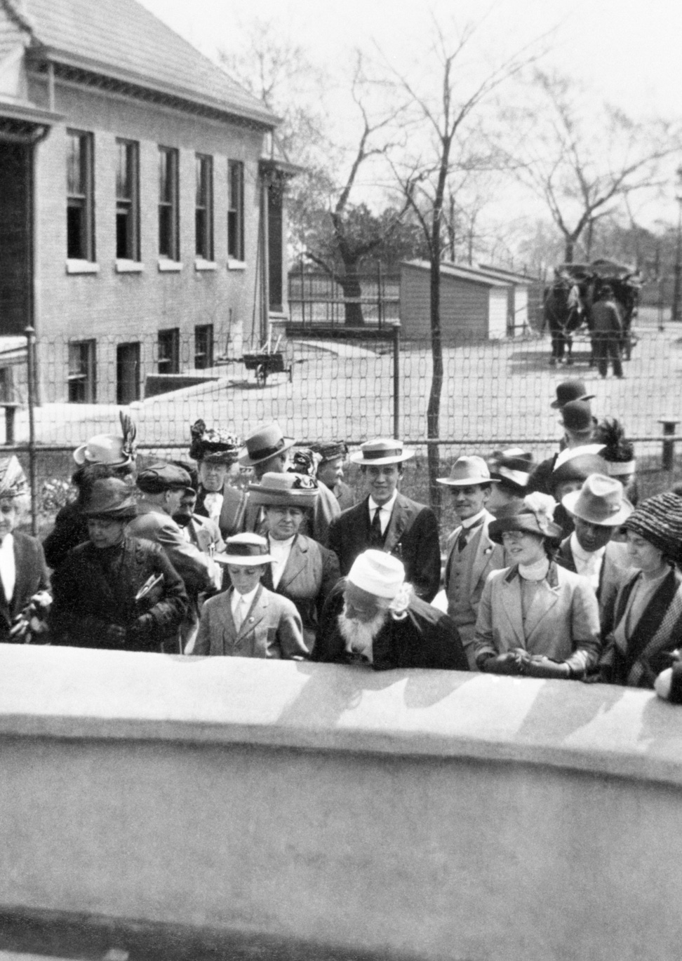
[[[150,579],[163,579],[136,601]],[[180,576],[162,548],[125,537],[113,548],[89,541],[53,577],[50,628],[57,644],[120,651],[178,652],[188,605]],[[122,629],[121,629],[122,628]]]

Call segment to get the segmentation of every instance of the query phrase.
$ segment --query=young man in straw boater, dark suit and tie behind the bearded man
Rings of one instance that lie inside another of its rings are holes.
[[[405,450],[400,440],[378,438],[366,441],[350,456],[362,467],[367,496],[332,521],[326,546],[339,557],[341,577],[367,548],[392,554],[404,564],[405,577],[417,597],[432,601],[441,583],[436,515],[430,507],[411,501],[397,489],[402,465],[414,453]]]

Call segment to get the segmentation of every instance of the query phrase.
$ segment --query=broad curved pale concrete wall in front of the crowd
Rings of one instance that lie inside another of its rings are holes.
[[[682,709],[0,645],[0,905],[426,959],[678,958]]]

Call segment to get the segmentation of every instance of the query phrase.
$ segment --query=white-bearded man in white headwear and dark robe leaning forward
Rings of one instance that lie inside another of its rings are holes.
[[[418,667],[467,671],[454,623],[415,597],[397,558],[368,550],[333,589],[311,659],[375,671]]]

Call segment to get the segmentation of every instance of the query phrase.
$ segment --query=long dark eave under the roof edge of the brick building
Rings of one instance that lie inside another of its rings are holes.
[[[197,96],[193,91],[182,87],[152,82],[148,77],[47,47],[28,50],[26,64],[29,70],[38,75],[46,75],[49,65],[52,64],[55,79],[119,93],[147,103],[161,104],[222,123],[246,125],[264,132],[273,130],[280,123],[279,117],[269,111],[251,111],[217,98]]]

